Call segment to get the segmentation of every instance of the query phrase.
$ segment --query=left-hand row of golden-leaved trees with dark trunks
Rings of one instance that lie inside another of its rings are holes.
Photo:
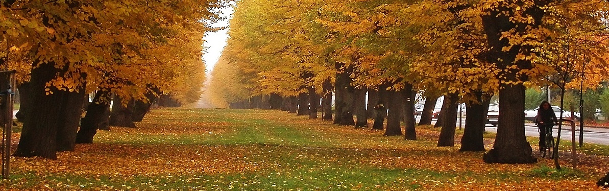
[[[56,159],[57,151],[92,143],[108,124],[135,127],[159,96],[160,105],[198,100],[202,38],[216,30],[210,24],[225,6],[221,0],[0,1],[0,66],[16,70],[23,121],[13,155]]]

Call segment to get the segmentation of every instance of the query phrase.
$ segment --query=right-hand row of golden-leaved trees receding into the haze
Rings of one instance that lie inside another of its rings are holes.
[[[426,100],[419,124],[431,123],[443,96],[438,146],[454,146],[465,103],[461,151],[485,150],[485,116],[498,96],[498,132],[484,161],[532,163],[525,90],[584,84],[593,92],[606,81],[608,9],[596,0],[241,0],[210,91],[231,108],[321,112],[356,128],[374,118],[371,128],[407,140],[417,139],[416,95]]]

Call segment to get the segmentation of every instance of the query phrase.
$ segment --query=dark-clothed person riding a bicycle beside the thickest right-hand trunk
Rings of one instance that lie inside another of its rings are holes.
[[[539,150],[543,150],[546,144],[546,131],[552,131],[552,126],[558,123],[556,114],[552,110],[552,106],[547,101],[542,101],[537,110],[537,117],[535,117],[535,123],[539,128]]]

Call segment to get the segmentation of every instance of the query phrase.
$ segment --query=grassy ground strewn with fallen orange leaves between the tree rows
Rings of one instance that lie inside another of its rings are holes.
[[[276,110],[158,109],[137,126],[58,160],[13,157],[0,190],[593,190],[609,171],[607,146],[586,145],[577,170],[568,143],[563,171],[549,159],[485,164],[436,147],[428,126],[411,141]]]

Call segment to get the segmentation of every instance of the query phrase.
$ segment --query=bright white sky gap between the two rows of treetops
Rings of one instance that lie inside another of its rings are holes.
[[[227,16],[227,18],[224,21],[214,23],[213,26],[228,27],[228,21],[233,17],[233,8],[222,9],[221,12],[222,15]],[[222,49],[227,45],[227,32],[228,29],[224,29],[217,32],[209,32],[205,35],[205,43],[203,43],[203,46],[205,46],[207,50],[204,52],[205,54],[203,54],[203,61],[205,61],[205,64],[207,65],[208,73],[213,70],[214,65],[222,53]]]

